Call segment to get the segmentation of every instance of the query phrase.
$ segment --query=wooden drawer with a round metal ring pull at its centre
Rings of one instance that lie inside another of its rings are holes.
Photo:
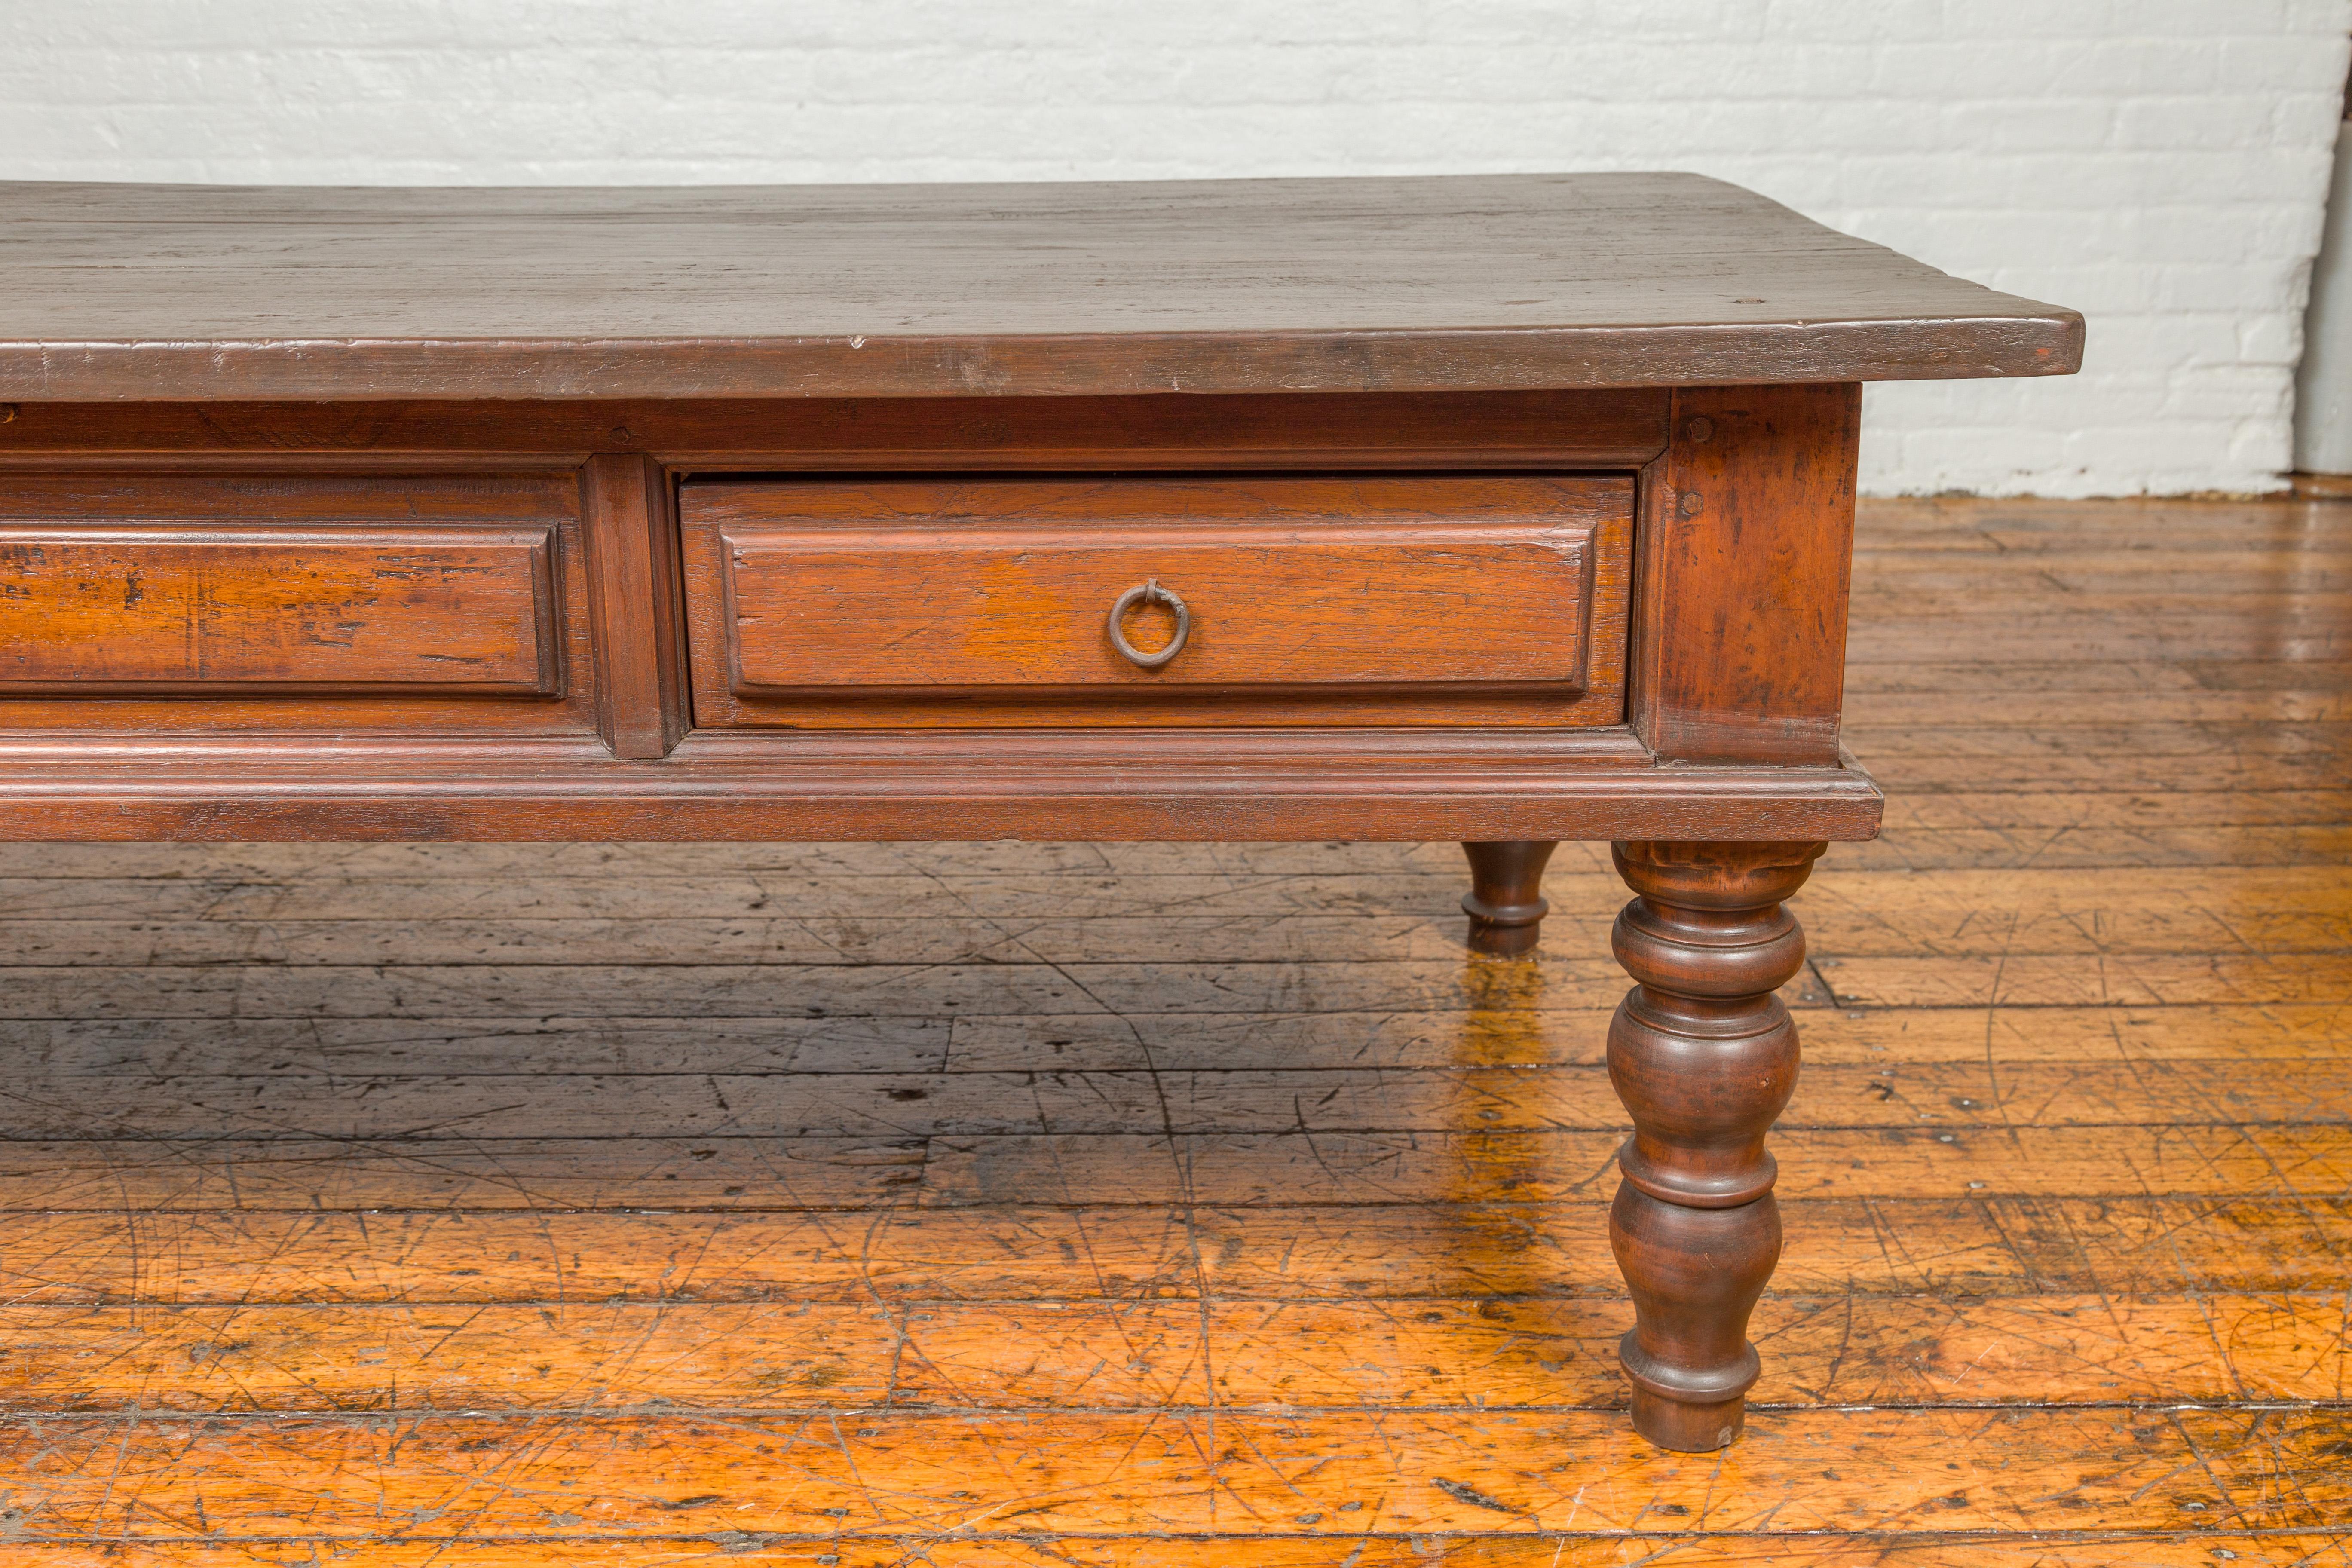
[[[694,717],[1618,724],[1632,501],[1625,475],[691,482]]]

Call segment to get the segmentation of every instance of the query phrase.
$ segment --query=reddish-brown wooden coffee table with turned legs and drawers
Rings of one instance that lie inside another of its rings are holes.
[[[0,202],[0,835],[1609,839],[1635,1425],[1740,1427],[1860,383],[2082,317],[1684,174]]]

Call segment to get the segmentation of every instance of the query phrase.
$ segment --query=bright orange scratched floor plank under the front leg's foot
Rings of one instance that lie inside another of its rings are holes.
[[[2340,1526],[2352,1410],[1762,1410],[1665,1455],[1613,1410],[75,1418],[0,1429],[19,1540],[2110,1530]]]

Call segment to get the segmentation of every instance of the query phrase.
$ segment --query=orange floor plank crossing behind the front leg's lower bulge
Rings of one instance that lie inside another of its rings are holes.
[[[997,1194],[1030,1175],[990,1171]],[[1595,1192],[1609,1182],[1597,1180]],[[1040,1197],[1051,1185],[1035,1182]],[[1806,1199],[1790,1295],[2352,1284],[2352,1199]],[[1613,1295],[1606,1201],[1378,1208],[19,1213],[14,1302]]]

